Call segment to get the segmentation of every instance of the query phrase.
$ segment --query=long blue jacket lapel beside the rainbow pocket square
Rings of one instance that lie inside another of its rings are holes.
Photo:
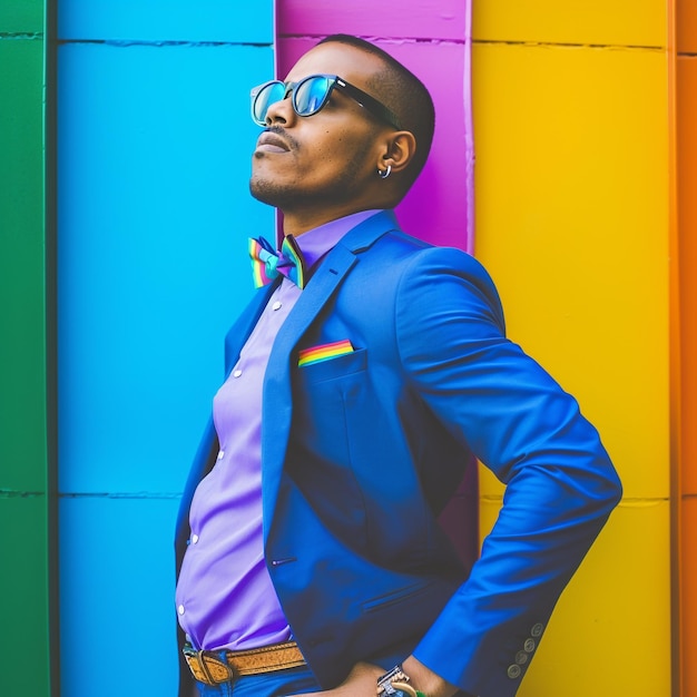
[[[284,322],[272,348],[264,379],[262,415],[262,503],[264,542],[276,507],[293,416],[291,369],[295,346],[356,263],[356,253],[390,229],[399,229],[391,212],[380,213],[350,230],[327,254]]]

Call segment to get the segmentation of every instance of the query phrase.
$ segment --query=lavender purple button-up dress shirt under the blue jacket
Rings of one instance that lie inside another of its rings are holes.
[[[375,213],[355,213],[298,236],[307,267]],[[301,293],[283,278],[213,401],[220,451],[194,494],[176,590],[179,625],[195,648],[242,650],[291,637],[264,561],[262,385],[276,334]]]

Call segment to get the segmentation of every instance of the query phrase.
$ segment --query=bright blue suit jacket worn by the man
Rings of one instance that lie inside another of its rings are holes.
[[[229,332],[227,371],[272,292]],[[353,353],[298,367],[300,350],[344,338]],[[577,402],[504,337],[481,265],[390,213],[362,223],[278,333],[263,410],[267,566],[321,684],[413,651],[463,690],[513,695],[621,491]],[[180,549],[214,449],[209,425]],[[468,578],[436,518],[472,454],[507,491]]]

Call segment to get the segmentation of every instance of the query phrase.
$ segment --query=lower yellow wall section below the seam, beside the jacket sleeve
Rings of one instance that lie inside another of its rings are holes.
[[[500,501],[481,504],[482,531]],[[621,503],[562,593],[519,697],[669,697],[669,503]]]

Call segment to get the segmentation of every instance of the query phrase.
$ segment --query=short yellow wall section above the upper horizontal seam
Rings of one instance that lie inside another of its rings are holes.
[[[666,46],[665,0],[483,0],[474,2],[475,41]]]

